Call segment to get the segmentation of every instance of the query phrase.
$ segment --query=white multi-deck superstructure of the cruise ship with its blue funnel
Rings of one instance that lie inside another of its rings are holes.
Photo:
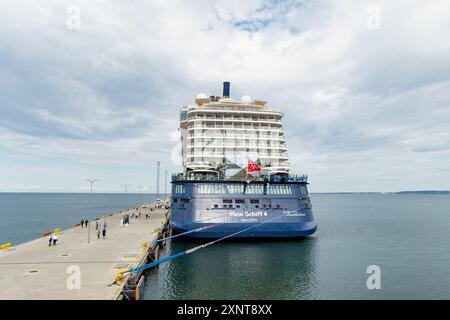
[[[199,94],[181,109],[183,166],[187,170],[215,170],[226,163],[244,168],[257,162],[263,173],[287,173],[289,159],[282,128],[283,113],[265,101]]]

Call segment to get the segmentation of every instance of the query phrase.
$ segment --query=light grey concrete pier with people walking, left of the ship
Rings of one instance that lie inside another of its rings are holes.
[[[105,239],[97,239],[93,221],[90,243],[88,229],[75,227],[62,230],[56,246],[43,237],[0,251],[0,299],[118,299],[126,281],[109,285],[121,271],[147,261],[155,230],[166,222],[164,209],[141,210],[142,217],[130,218],[128,227],[121,227],[120,219],[134,209],[106,216]]]

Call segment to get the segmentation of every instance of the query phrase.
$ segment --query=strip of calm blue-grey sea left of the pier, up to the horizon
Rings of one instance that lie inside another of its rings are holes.
[[[0,243],[22,243],[86,218],[128,209],[155,199],[151,194],[0,193]]]

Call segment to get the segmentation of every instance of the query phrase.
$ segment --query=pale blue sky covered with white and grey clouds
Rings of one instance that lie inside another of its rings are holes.
[[[450,2],[0,0],[0,192],[155,192],[199,93],[284,112],[312,192],[450,190]],[[174,151],[175,150],[175,151]],[[164,182],[161,183],[161,190]]]

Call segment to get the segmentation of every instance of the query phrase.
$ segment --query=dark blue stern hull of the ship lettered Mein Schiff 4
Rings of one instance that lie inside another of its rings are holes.
[[[268,194],[264,183],[261,194],[231,192],[248,182],[211,182],[214,194],[202,192],[205,182],[174,182],[171,226],[175,233],[195,238],[305,237],[317,229],[306,183],[274,183],[286,194]],[[253,185],[263,185],[252,182]],[[182,185],[183,187],[177,187]],[[233,187],[228,187],[232,185]],[[218,187],[220,186],[220,187]],[[200,190],[200,192],[199,192]],[[218,191],[217,191],[218,190]]]

